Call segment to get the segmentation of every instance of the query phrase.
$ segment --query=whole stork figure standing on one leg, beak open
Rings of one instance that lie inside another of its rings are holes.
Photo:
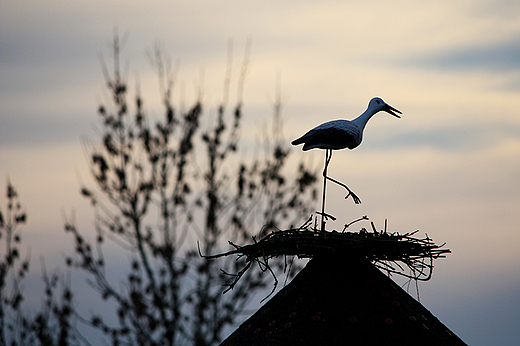
[[[380,111],[387,112],[397,118],[402,114],[399,110],[387,104],[380,97],[374,97],[368,103],[366,111],[363,112],[354,120],[332,120],[309,130],[306,134],[291,142],[292,145],[299,145],[303,143],[303,151],[310,149],[325,149],[325,168],[323,169],[323,199],[321,205],[321,230],[325,230],[325,219],[331,217],[325,213],[325,190],[327,180],[330,180],[340,186],[343,186],[348,191],[348,195],[352,196],[354,203],[359,204],[361,200],[347,185],[327,176],[327,168],[332,159],[332,151],[339,149],[354,149],[361,144],[363,140],[363,130],[367,122],[372,116]]]

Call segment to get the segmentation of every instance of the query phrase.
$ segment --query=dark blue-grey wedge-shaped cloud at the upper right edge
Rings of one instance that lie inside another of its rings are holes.
[[[441,53],[407,59],[402,63],[446,71],[510,72],[520,70],[520,38],[501,43],[452,48]]]

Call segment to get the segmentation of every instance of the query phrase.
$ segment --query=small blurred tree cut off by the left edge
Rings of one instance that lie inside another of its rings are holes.
[[[24,308],[23,281],[29,273],[30,256],[27,252],[21,259],[20,226],[26,223],[27,213],[10,181],[5,196],[7,208],[0,211],[0,345],[85,344],[75,326],[73,293],[60,280],[59,272],[49,274],[42,266],[42,307]]]

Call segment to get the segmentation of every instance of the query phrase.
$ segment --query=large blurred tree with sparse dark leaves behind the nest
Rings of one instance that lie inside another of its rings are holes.
[[[87,318],[113,345],[214,345],[265,286],[266,277],[250,270],[223,295],[228,279],[223,272],[239,272],[245,262],[206,261],[193,240],[202,252],[216,253],[227,240],[250,242],[262,226],[265,234],[299,222],[311,213],[315,173],[302,164],[296,174],[288,174],[289,151],[280,138],[262,157],[237,158],[249,44],[236,104],[229,110],[233,62],[228,54],[223,101],[205,130],[202,97],[186,111],[174,106],[175,68],[160,47],[149,54],[164,106],[154,126],[139,93],[129,104],[117,35],[112,49],[113,71],[103,64],[111,101],[98,109],[99,144],[87,144],[97,186],[81,190],[96,210],[96,241],[90,243],[74,221],[66,221],[75,243],[67,264],[87,273],[94,290],[116,307],[117,321],[100,314]],[[280,105],[275,106],[279,119]],[[122,276],[107,275],[107,239],[132,258],[124,285]]]

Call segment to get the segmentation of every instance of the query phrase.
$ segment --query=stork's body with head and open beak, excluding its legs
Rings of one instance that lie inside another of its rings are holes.
[[[316,126],[298,139],[292,141],[292,145],[303,143],[303,151],[310,149],[354,149],[363,140],[363,130],[367,122],[374,114],[385,111],[400,118],[401,113],[392,106],[386,104],[381,98],[374,97],[370,100],[368,108],[363,114],[354,120],[332,120]]]

